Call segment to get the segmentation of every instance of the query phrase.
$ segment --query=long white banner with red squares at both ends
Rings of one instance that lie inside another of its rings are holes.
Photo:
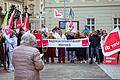
[[[58,39],[44,39],[44,47],[89,47],[88,38],[84,39],[71,39],[71,40],[58,40]]]

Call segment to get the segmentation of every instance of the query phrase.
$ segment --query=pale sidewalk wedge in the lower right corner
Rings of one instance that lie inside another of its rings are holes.
[[[120,79],[120,65],[98,65],[112,79]]]

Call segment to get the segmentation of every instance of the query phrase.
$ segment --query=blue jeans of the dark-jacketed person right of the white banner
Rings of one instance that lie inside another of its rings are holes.
[[[90,61],[90,63],[93,62],[93,56],[94,56],[93,53],[94,53],[94,51],[95,51],[96,61],[98,63],[100,63],[100,56],[99,56],[99,48],[98,47],[91,47],[91,56],[90,56],[91,61]]]

